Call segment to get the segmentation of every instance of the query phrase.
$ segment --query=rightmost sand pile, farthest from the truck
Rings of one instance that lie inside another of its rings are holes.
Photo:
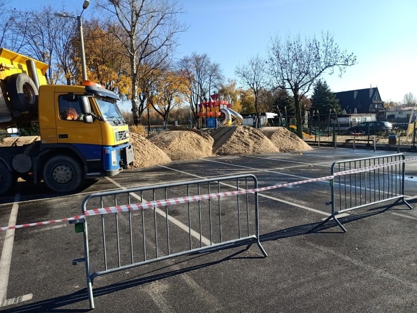
[[[268,137],[281,152],[306,151],[312,149],[301,138],[285,127],[262,127],[259,128],[259,131]]]

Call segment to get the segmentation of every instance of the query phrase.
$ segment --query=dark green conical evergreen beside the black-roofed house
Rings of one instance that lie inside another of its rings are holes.
[[[332,112],[335,109],[337,114],[342,113],[339,100],[335,98],[327,83],[324,80],[319,80],[311,97],[311,110],[319,110],[322,115],[328,114],[329,109],[332,109]]]

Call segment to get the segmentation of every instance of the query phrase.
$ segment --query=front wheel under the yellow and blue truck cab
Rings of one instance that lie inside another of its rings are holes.
[[[56,155],[45,163],[44,182],[55,193],[72,193],[84,181],[80,164],[67,155]]]

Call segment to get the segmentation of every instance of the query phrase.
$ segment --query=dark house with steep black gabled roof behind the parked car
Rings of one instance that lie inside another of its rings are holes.
[[[378,87],[349,90],[335,93],[342,110],[350,114],[376,114],[377,119],[385,118],[384,102],[379,95]]]

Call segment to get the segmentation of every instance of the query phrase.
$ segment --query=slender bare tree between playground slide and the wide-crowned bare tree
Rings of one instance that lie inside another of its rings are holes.
[[[259,92],[267,84],[266,63],[259,54],[252,56],[247,64],[237,65],[234,73],[239,76],[242,84],[248,86],[255,96],[255,111],[257,115],[257,127],[260,127],[258,110]]]

